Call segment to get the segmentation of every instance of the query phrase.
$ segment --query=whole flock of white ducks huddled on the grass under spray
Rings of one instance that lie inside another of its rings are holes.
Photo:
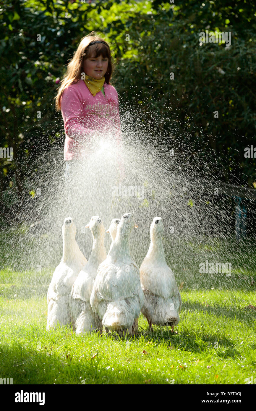
[[[140,313],[152,325],[179,322],[181,298],[174,274],[166,264],[162,236],[164,225],[155,217],[150,227],[150,247],[139,269],[131,256],[129,238],[134,227],[132,214],[113,219],[109,229],[112,243],[104,246],[105,229],[99,216],[90,219],[93,238],[89,260],[76,243],[71,217],[62,226],[63,254],[47,292],[47,330],[70,323],[77,334],[110,330],[120,335],[138,330]]]

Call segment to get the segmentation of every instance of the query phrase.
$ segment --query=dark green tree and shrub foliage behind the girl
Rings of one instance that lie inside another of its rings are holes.
[[[226,180],[249,186],[256,180],[256,159],[244,158],[255,141],[254,2],[4,0],[0,25],[0,146],[13,148],[13,161],[0,159],[1,204],[7,192],[20,201],[29,196],[31,159],[64,144],[53,99],[91,30],[111,44],[124,110],[125,101],[140,104],[144,120],[157,122],[150,104],[164,118],[156,132],[165,130],[166,141],[172,129],[177,141],[189,132],[194,152],[211,151]],[[231,32],[231,46],[200,45],[207,29]]]

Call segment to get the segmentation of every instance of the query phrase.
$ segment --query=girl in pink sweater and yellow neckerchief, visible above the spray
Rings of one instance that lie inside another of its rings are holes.
[[[81,40],[56,96],[65,128],[65,174],[71,160],[86,157],[93,137],[108,134],[120,142],[118,93],[110,84],[110,48],[93,34]]]

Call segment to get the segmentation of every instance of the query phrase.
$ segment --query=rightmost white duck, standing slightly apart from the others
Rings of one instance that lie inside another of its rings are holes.
[[[181,297],[174,274],[166,264],[161,236],[164,225],[161,217],[155,217],[150,226],[150,247],[141,264],[141,288],[145,296],[142,314],[157,326],[173,326],[180,321]]]

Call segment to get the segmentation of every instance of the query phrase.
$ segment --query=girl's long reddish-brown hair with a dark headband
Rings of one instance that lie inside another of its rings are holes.
[[[57,111],[61,109],[60,99],[62,93],[66,87],[68,87],[71,83],[77,83],[78,80],[81,79],[81,74],[83,72],[83,59],[90,58],[92,56],[99,57],[102,55],[103,58],[108,58],[108,69],[106,74],[104,74],[105,81],[107,84],[110,84],[110,79],[112,75],[112,62],[111,62],[111,52],[110,48],[105,43],[96,43],[92,44],[92,46],[88,47],[90,42],[93,41],[104,41],[98,35],[95,35],[95,32],[92,31],[87,36],[83,37],[77,50],[74,52],[73,58],[67,65],[67,72],[64,75],[60,87],[58,89],[58,94],[55,97],[55,108]],[[107,43],[107,42],[106,42]],[[87,48],[88,47],[88,48]]]

